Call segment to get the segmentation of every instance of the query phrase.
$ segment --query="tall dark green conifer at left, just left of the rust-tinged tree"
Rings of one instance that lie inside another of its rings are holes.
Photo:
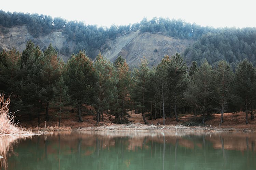
[[[21,111],[28,112],[31,118],[31,106],[37,107],[36,113],[39,124],[41,123],[39,112],[42,104],[39,98],[39,91],[42,88],[42,64],[39,61],[41,57],[43,57],[43,52],[39,46],[35,47],[32,41],[28,41],[21,55],[21,79],[19,80],[19,96],[22,98]]]

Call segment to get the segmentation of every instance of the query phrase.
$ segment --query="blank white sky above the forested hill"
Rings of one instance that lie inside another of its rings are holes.
[[[24,12],[110,27],[140,22],[144,17],[183,19],[212,27],[256,27],[253,0],[8,0],[5,12]]]

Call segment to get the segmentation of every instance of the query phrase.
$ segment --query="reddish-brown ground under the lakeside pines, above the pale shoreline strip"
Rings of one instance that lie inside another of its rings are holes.
[[[66,107],[65,108],[68,111],[72,110],[72,107]],[[91,111],[89,111],[91,109]],[[91,106],[84,106],[84,109],[82,110],[82,119],[84,120],[83,122],[78,122],[78,117],[77,113],[71,113],[69,112],[68,115],[63,116],[61,118],[61,126],[63,127],[71,127],[72,129],[76,128],[88,128],[88,127],[96,127],[96,114]],[[38,119],[36,116],[33,117],[31,121],[29,120],[28,115],[23,115],[19,118],[19,125],[22,127],[26,128],[44,128],[47,126],[57,126],[58,125],[58,118],[54,116],[54,109],[49,110],[49,115],[50,115],[50,121],[45,122],[45,114],[41,113],[40,118],[41,118],[41,123],[38,124]],[[132,114],[129,112],[128,117],[126,119],[130,121],[131,123],[141,123],[144,124],[142,115],[141,114],[135,114],[132,112]],[[99,122],[99,126],[113,126],[114,125],[114,120],[115,117],[112,115],[108,114],[103,114],[104,121]],[[146,117],[148,123],[157,125],[163,124],[163,119],[158,118],[157,120],[151,120],[151,115],[148,114]],[[207,118],[205,121],[205,125],[208,127],[217,127],[219,128],[219,122],[221,119],[221,114],[213,114],[211,118]],[[202,125],[201,124],[201,115],[193,116],[191,114],[186,114],[186,115],[179,115],[179,122],[175,121],[175,118],[166,118],[165,119],[165,125],[185,125],[185,126],[190,126],[193,127],[193,125]],[[225,113],[224,114],[224,123],[222,123],[221,128],[225,129],[240,129],[240,130],[256,130],[256,118],[254,120],[250,119],[250,115],[248,115],[248,124],[245,124],[245,113],[244,112],[239,112],[239,113]]]

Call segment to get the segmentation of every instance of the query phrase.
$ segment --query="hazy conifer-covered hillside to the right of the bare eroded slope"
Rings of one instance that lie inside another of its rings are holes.
[[[255,28],[224,28],[215,33],[204,34],[184,53],[184,56],[190,61],[199,62],[203,58],[207,58],[212,65],[216,65],[219,60],[226,60],[233,69],[244,58],[255,65],[255,55]]]

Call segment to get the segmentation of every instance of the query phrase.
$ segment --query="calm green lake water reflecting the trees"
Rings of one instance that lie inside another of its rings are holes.
[[[0,137],[0,169],[256,169],[255,132],[80,131],[9,141]]]

